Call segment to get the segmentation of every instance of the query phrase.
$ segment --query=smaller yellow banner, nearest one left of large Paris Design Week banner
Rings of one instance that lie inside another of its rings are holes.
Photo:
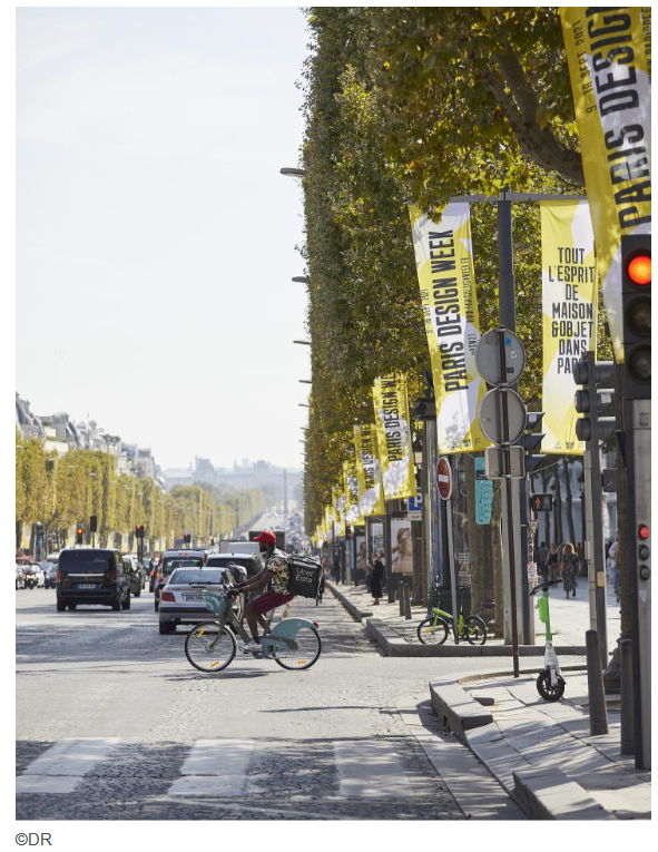
[[[415,497],[406,382],[401,373],[375,379],[373,404],[384,500]]]

